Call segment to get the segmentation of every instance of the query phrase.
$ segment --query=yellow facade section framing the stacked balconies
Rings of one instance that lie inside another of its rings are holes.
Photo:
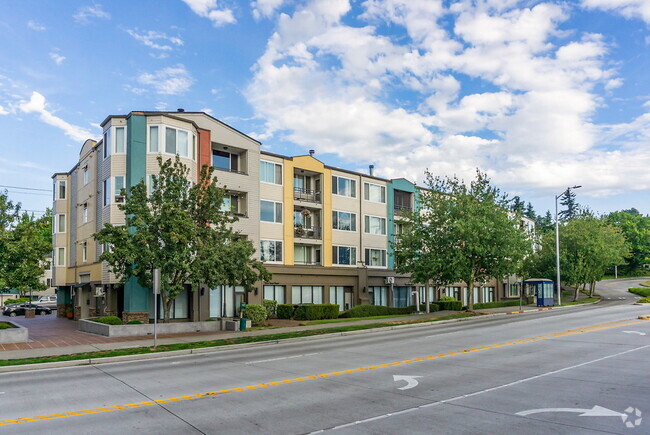
[[[294,228],[293,228],[293,209],[294,209],[294,191],[293,191],[293,174],[295,169],[304,169],[307,171],[318,172],[322,175],[321,181],[321,201],[323,206],[322,212],[322,237],[323,245],[321,249],[321,261],[325,267],[332,266],[332,171],[325,168],[323,163],[311,156],[299,156],[293,159],[284,160],[284,264],[293,266],[294,264]]]

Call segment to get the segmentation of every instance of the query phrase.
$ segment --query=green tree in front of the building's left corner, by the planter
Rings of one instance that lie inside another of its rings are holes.
[[[214,169],[204,166],[199,181],[188,180],[180,161],[158,158],[160,175],[152,177],[151,193],[144,181],[127,192],[120,210],[125,225],[106,224],[95,239],[107,244],[100,260],[108,262],[120,281],[134,277],[152,287],[152,270],[160,269],[160,293],[165,322],[172,302],[190,284],[242,285],[252,290],[269,280],[264,266],[253,259],[252,243],[232,230],[236,221],[221,211],[225,190],[217,186]]]

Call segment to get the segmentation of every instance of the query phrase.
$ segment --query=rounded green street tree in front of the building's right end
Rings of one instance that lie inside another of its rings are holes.
[[[521,228],[521,215],[508,210],[507,196],[480,171],[469,185],[427,172],[426,184],[431,191],[422,193],[422,210],[409,216],[400,237],[400,267],[415,274],[416,281],[464,281],[471,310],[473,284],[515,273],[531,241]]]

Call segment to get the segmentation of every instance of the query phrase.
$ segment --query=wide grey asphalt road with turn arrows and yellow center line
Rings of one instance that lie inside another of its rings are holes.
[[[607,292],[627,297],[628,286],[609,283]],[[650,433],[650,321],[637,318],[650,306],[618,297],[0,374],[0,433]]]

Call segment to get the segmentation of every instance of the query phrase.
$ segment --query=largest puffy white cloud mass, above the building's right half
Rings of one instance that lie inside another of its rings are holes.
[[[301,3],[277,16],[246,91],[264,121],[257,136],[372,161],[388,177],[479,167],[506,189],[647,186],[647,120],[592,121],[598,92],[622,84],[607,42],[564,30],[562,5],[528,4],[366,0],[352,17],[348,0]]]

